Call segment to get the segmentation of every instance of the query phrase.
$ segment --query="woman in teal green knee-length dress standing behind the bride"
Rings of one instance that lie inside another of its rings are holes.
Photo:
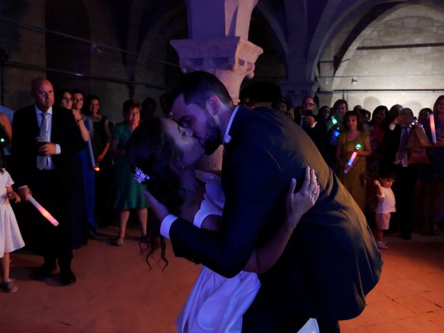
[[[114,129],[111,139],[110,152],[115,160],[115,199],[114,208],[120,209],[119,234],[113,244],[120,246],[125,238],[126,223],[130,217],[130,210],[137,211],[142,238],[146,237],[146,223],[148,219],[148,203],[142,195],[142,185],[136,182],[131,173],[130,165],[126,160],[126,143],[133,130],[139,125],[140,103],[128,100],[123,103],[123,123]]]

